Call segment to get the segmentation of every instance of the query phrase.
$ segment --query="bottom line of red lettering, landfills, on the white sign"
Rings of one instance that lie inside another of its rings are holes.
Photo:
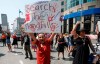
[[[58,27],[57,23],[49,23],[47,22],[38,22],[37,24],[29,24],[26,25],[27,29],[30,29],[32,32],[35,32],[36,30],[42,30],[43,28],[50,28],[51,31],[55,31],[55,29]]]

